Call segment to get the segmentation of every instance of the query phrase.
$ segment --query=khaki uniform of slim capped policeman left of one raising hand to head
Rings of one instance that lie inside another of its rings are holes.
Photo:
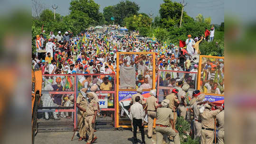
[[[194,121],[193,121],[193,128],[194,128],[194,138],[201,138],[201,130],[202,130],[202,123],[201,117],[199,116],[199,109],[198,104],[199,102],[195,102],[190,108],[193,108],[194,112]]]

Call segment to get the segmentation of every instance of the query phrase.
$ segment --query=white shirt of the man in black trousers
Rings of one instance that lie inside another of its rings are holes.
[[[131,106],[130,119],[132,120],[133,118],[142,120],[144,119],[143,107],[142,104],[140,104],[139,102],[135,102]]]

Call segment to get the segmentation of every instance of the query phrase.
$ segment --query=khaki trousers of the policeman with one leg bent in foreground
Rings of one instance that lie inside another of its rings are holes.
[[[156,144],[162,144],[163,135],[170,135],[174,138],[174,144],[180,144],[180,135],[176,133],[170,126],[156,126]]]

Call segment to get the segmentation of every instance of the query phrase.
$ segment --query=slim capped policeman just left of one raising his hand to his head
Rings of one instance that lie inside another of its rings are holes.
[[[206,103],[202,102],[205,98],[205,94],[201,93],[197,97],[197,102],[195,102],[192,106],[190,106],[190,110],[193,110],[194,113],[194,120],[193,120],[193,129],[194,129],[194,139],[201,137],[201,129],[202,129],[202,123],[201,123],[201,117],[199,116],[199,106]]]

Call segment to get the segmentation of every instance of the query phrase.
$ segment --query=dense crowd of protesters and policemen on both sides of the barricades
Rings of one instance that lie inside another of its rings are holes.
[[[79,96],[76,99],[76,106],[79,108],[78,119],[83,119],[80,126],[79,140],[86,139],[86,134],[89,136],[87,143],[93,143],[97,137],[94,135],[94,124],[97,112],[99,111],[98,99],[95,91],[97,90],[114,90],[113,75],[100,74],[116,74],[117,68],[117,53],[116,52],[154,52],[156,54],[155,66],[153,65],[152,54],[120,54],[119,67],[125,69],[133,69],[134,84],[133,86],[124,86],[123,89],[142,89],[152,90],[151,99],[147,99],[149,130],[148,137],[152,137],[152,120],[156,121],[157,144],[162,143],[163,135],[171,135],[175,144],[180,144],[179,134],[175,129],[177,120],[177,111],[179,116],[188,117],[187,106],[190,104],[192,125],[191,129],[195,138],[201,138],[201,144],[209,144],[213,139],[210,138],[208,130],[212,130],[212,117],[216,116],[222,109],[215,107],[214,104],[207,101],[201,102],[204,95],[201,93],[216,93],[224,94],[224,60],[223,59],[203,59],[202,74],[200,77],[200,91],[190,91],[189,88],[195,89],[195,81],[197,75],[193,73],[177,73],[177,72],[162,72],[160,77],[160,86],[174,87],[172,91],[163,90],[164,98],[161,100],[161,105],[156,104],[153,97],[156,97],[156,88],[152,87],[153,68],[157,76],[159,70],[172,70],[180,72],[198,72],[199,66],[199,43],[206,39],[210,41],[214,37],[214,27],[203,36],[195,36],[185,42],[185,46],[168,45],[166,42],[146,42],[139,40],[133,35],[124,35],[122,38],[116,34],[105,31],[103,35],[99,35],[96,31],[87,30],[78,35],[73,35],[72,32],[66,31],[64,35],[59,31],[55,36],[51,31],[49,35],[42,28],[42,33],[35,37],[36,53],[32,54],[32,68],[41,69],[42,74],[99,74],[99,75],[78,75],[78,90]],[[120,76],[122,77],[122,75]],[[157,77],[156,77],[157,78]],[[42,90],[74,90],[74,76],[44,76]],[[122,86],[123,83],[118,83]],[[206,92],[207,90],[207,92]],[[88,98],[88,99],[86,99]],[[113,95],[108,95],[108,106],[114,106]],[[188,100],[189,99],[189,100]],[[133,124],[142,129],[143,113],[136,114],[138,111],[134,108],[145,109],[145,103],[142,103],[142,97],[134,97],[131,103],[131,117]],[[72,94],[43,94],[43,107],[74,107],[74,96]],[[196,104],[194,104],[194,103]],[[141,103],[143,106],[139,105]],[[137,106],[135,106],[136,104]],[[204,104],[205,109],[211,109],[211,106],[219,109],[216,111],[204,110],[198,112],[200,105]],[[134,105],[134,106],[133,106]],[[88,109],[89,108],[89,109]],[[142,111],[143,111],[142,109]],[[54,119],[58,120],[59,115],[54,112]],[[61,113],[61,117],[72,117],[68,113]],[[198,117],[202,117],[201,119]],[[130,117],[130,118],[131,118]],[[144,117],[144,116],[143,116]],[[48,113],[45,113],[45,118],[48,119]],[[171,119],[171,121],[170,121]],[[210,126],[209,126],[210,121]],[[200,124],[199,124],[200,123]],[[224,123],[223,123],[224,124]],[[171,127],[170,127],[171,126]],[[206,129],[200,129],[206,128]],[[224,129],[223,129],[224,130]],[[192,135],[192,134],[191,134]],[[134,142],[137,142],[134,133]],[[145,143],[142,137],[142,142]]]

